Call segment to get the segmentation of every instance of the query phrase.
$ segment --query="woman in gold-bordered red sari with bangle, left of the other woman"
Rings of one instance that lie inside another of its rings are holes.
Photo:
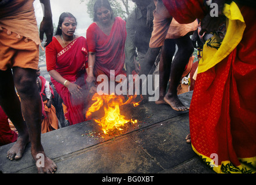
[[[47,71],[56,91],[67,107],[65,117],[70,124],[85,121],[87,41],[74,35],[76,18],[62,13],[56,35],[46,47]]]

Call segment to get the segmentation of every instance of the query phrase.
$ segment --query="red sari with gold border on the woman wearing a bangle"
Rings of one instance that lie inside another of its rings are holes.
[[[83,92],[86,90],[86,71],[88,48],[85,38],[80,36],[71,42],[67,47],[60,49],[60,43],[53,37],[52,42],[46,47],[46,65],[47,71],[55,69],[64,79],[71,83],[76,83],[83,88]],[[55,62],[56,65],[53,65]],[[51,81],[54,84],[56,91],[63,99],[65,106],[67,107],[67,117],[70,124],[81,123],[85,121],[85,114],[83,109],[85,108],[85,100],[75,100],[71,97],[70,91],[63,84],[58,83],[51,77]]]

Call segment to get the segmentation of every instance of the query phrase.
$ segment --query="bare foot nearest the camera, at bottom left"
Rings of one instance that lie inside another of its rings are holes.
[[[44,151],[32,154],[32,157],[36,162],[38,173],[55,173],[57,171],[57,165],[45,155]]]

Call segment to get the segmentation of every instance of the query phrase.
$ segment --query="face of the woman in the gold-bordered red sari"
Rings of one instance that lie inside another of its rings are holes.
[[[73,17],[65,17],[61,24],[62,34],[65,36],[73,36],[76,29],[76,21]]]

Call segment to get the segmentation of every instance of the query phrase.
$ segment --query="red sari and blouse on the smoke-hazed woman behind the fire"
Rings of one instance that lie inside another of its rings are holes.
[[[116,17],[110,35],[105,35],[96,23],[90,25],[86,32],[89,51],[96,52],[95,71],[115,70],[115,76],[123,71],[125,65],[126,23]],[[97,76],[96,76],[97,77]]]

